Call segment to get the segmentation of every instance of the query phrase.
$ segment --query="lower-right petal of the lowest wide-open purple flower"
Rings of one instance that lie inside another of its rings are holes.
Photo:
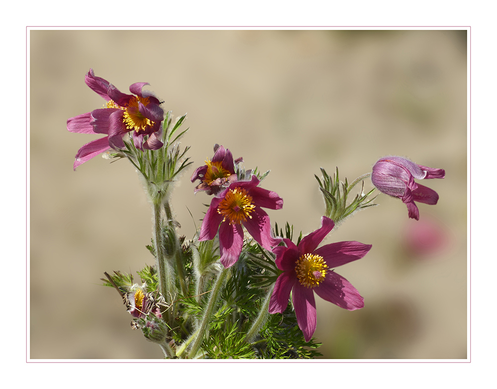
[[[339,274],[329,271],[325,279],[314,292],[321,298],[348,310],[364,306],[364,298],[357,290]]]

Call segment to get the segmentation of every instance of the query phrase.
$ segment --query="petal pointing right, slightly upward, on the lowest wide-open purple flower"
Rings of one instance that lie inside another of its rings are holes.
[[[313,254],[323,257],[329,268],[335,268],[361,259],[371,250],[371,247],[370,244],[355,241],[336,242],[320,247]]]

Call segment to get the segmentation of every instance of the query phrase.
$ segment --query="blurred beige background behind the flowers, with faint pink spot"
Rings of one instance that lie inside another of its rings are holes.
[[[125,93],[148,82],[165,110],[188,112],[194,164],[173,196],[188,238],[210,200],[189,176],[215,143],[271,170],[264,188],[284,198],[272,222],[304,234],[324,212],[320,167],[349,182],[389,154],[445,169],[422,182],[440,200],[420,204],[419,221],[380,194],[329,235],[373,245],[337,270],[365,307],[317,297],[315,336],[324,358],[467,357],[465,31],[32,30],[29,50],[31,358],[162,358],[100,286],[104,271],[154,263],[152,213],[127,161],[96,157],[73,172],[98,136],[66,120],[104,103],[84,84],[90,67]]]

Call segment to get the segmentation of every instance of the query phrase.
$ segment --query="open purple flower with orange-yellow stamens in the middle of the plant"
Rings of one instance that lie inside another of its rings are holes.
[[[259,179],[237,181],[214,197],[202,221],[199,241],[214,239],[219,230],[221,263],[229,268],[238,261],[244,242],[243,226],[266,250],[281,242],[271,236],[269,216],[261,207],[281,209],[283,199],[277,193],[257,187]]]

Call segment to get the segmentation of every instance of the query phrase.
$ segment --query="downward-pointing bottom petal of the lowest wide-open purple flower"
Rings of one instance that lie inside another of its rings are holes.
[[[316,331],[317,322],[314,292],[296,282],[293,287],[292,301],[299,328],[304,334],[306,342],[309,342]]]

